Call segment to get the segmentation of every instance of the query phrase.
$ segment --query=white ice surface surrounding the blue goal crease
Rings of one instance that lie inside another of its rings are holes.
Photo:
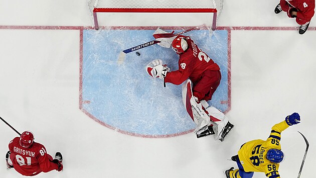
[[[265,140],[274,124],[298,112],[301,124],[282,132],[286,158],[279,173],[297,177],[305,150],[300,131],[310,143],[301,177],[314,177],[315,23],[312,19],[308,31],[299,35],[298,25],[285,13],[274,14],[277,4],[224,2],[218,26],[229,29],[231,110],[226,115],[235,128],[223,143],[213,137],[196,139],[193,133],[130,136],[104,127],[79,109],[83,33],[78,27],[92,26],[84,1],[0,2],[0,116],[20,132],[31,130],[48,153],[63,153],[63,172],[37,177],[204,178],[225,177],[225,169],[236,167],[227,159],[240,145]],[[210,26],[210,19],[205,14],[108,14],[100,25],[192,27]],[[0,175],[23,177],[6,170],[5,164],[8,143],[17,134],[4,123],[0,128]]]

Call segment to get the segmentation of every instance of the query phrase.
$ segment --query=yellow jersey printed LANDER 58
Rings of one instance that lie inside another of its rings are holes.
[[[269,149],[281,149],[281,132],[289,126],[285,121],[272,127],[269,138],[252,140],[240,148],[238,157],[246,172],[264,172],[267,177],[279,176],[279,163],[273,163],[266,158]]]

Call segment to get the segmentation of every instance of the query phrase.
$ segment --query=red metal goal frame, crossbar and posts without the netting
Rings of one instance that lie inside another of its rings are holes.
[[[217,9],[213,8],[93,8],[95,30],[99,29],[97,13],[213,13],[212,30],[217,20]]]

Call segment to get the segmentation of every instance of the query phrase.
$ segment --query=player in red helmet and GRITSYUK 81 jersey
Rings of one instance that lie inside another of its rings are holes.
[[[15,168],[26,176],[37,175],[40,172],[51,170],[63,170],[62,155],[57,152],[55,159],[46,152],[46,148],[34,142],[34,135],[25,131],[20,137],[14,138],[9,143],[9,151],[6,155],[7,167]]]

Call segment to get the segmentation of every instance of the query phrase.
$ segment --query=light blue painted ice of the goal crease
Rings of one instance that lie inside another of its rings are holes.
[[[152,45],[126,54],[124,49],[153,40],[154,30],[84,30],[82,63],[82,108],[116,129],[140,135],[164,136],[194,129],[182,103],[181,85],[150,77],[145,66],[162,59],[171,70],[178,69],[178,55],[171,48]],[[180,32],[180,31],[176,31]],[[228,43],[226,30],[195,30],[186,33],[221,68],[221,84],[209,104],[226,111],[228,101]]]

